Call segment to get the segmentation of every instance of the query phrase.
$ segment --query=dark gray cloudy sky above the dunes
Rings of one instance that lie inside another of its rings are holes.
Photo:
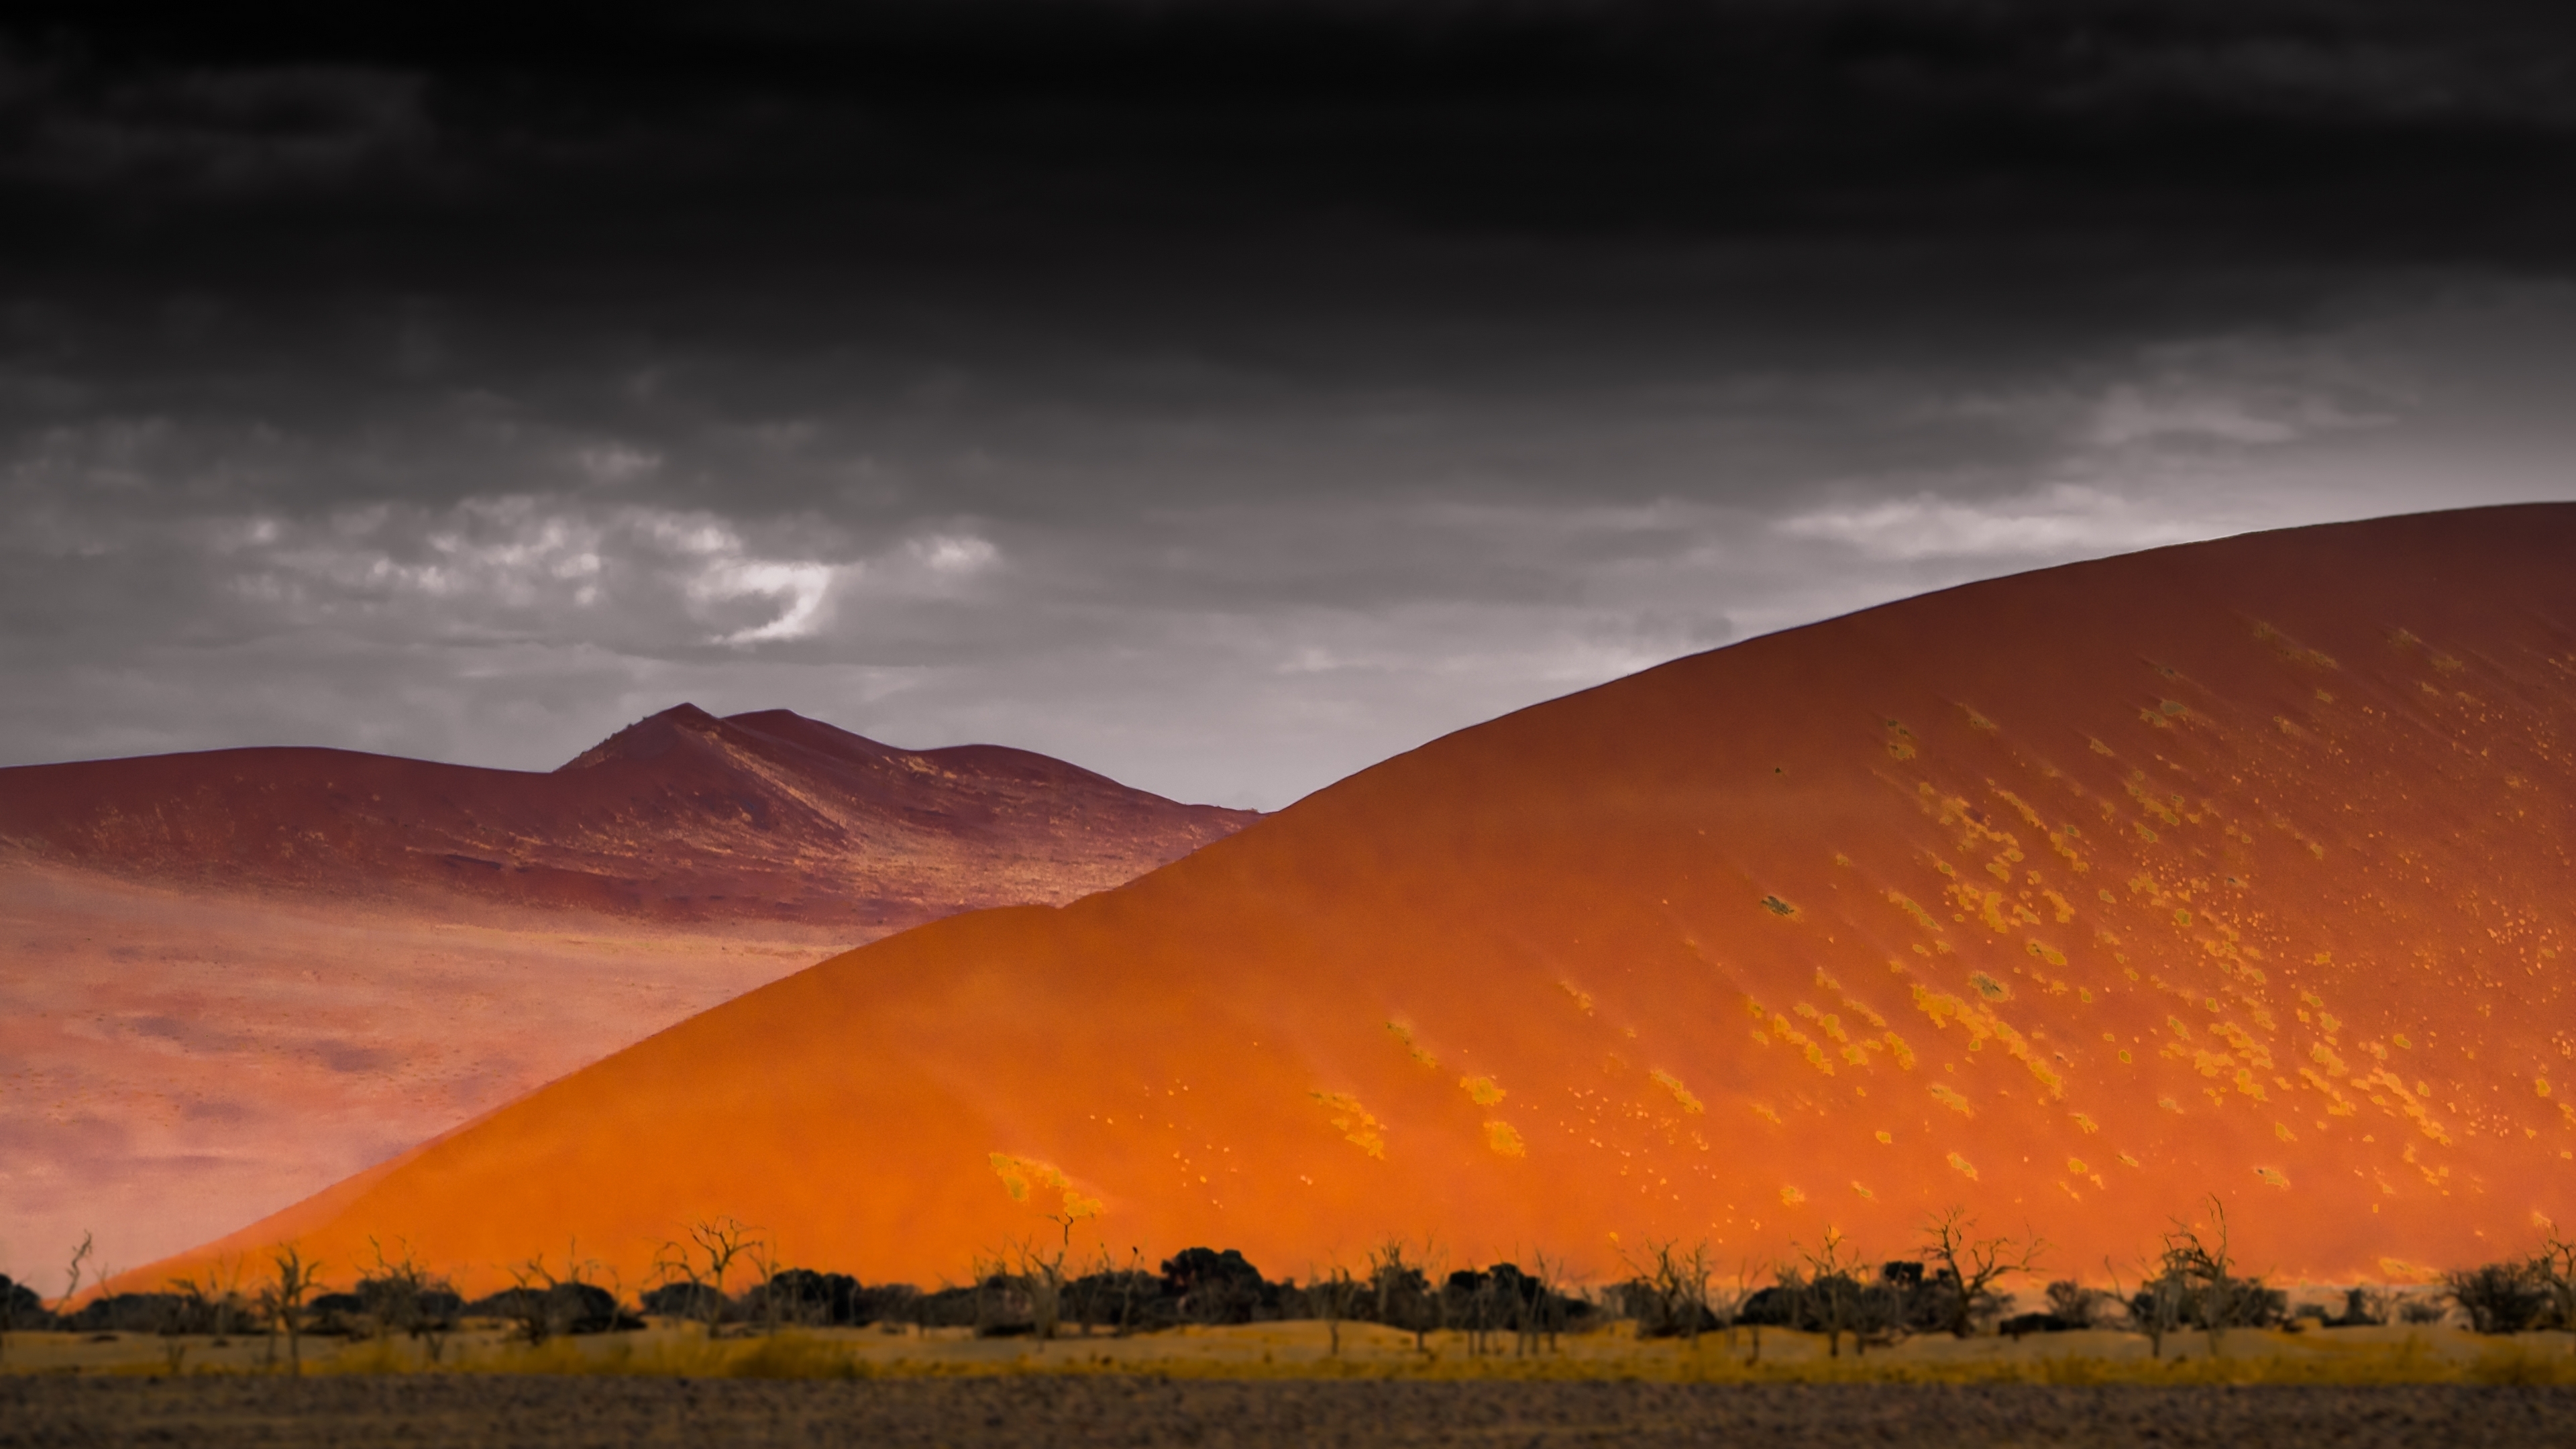
[[[0,763],[690,699],[1278,807],[1924,588],[2576,498],[2555,8],[639,13],[0,28]]]

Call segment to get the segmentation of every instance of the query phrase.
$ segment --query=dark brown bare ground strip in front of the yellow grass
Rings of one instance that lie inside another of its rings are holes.
[[[0,1379],[54,1444],[2566,1444],[2576,1390],[1445,1385],[1141,1377]]]

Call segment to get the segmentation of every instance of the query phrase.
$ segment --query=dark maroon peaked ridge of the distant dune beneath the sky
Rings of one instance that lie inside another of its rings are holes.
[[[1249,820],[1028,750],[896,750],[688,704],[554,773],[291,748],[0,771],[0,846],[131,879],[860,936],[1074,900]]]

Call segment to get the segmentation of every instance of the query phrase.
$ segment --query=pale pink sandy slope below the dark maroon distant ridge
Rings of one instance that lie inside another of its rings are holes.
[[[57,1292],[82,1232],[93,1269],[232,1232],[850,944],[0,861],[0,1271]]]

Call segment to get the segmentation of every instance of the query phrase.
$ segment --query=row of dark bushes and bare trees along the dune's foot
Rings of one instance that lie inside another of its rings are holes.
[[[1066,1232],[1069,1235],[1069,1232]],[[2197,1222],[2172,1220],[2161,1245],[2123,1281],[2105,1261],[2110,1289],[2076,1279],[2045,1284],[2038,1307],[2022,1310],[2007,1279],[2043,1276],[2048,1243],[2032,1232],[1981,1232],[1963,1209],[1927,1220],[1909,1256],[1870,1258],[1826,1230],[1793,1245],[1783,1261],[1739,1261],[1723,1269],[1708,1243],[1649,1240],[1623,1250],[1623,1279],[1571,1287],[1564,1263],[1535,1253],[1530,1266],[1448,1266],[1432,1245],[1386,1240],[1358,1269],[1334,1263],[1306,1281],[1267,1279],[1234,1248],[1185,1248],[1154,1269],[1141,1253],[1121,1263],[1100,1250],[1069,1263],[1069,1250],[1015,1243],[979,1261],[966,1284],[917,1289],[863,1284],[850,1274],[786,1266],[768,1240],[734,1220],[706,1220],[665,1243],[654,1284],[629,1297],[618,1276],[567,1243],[559,1258],[505,1263],[510,1287],[466,1299],[446,1274],[428,1269],[410,1243],[371,1256],[345,1292],[325,1292],[322,1263],[296,1245],[258,1258],[222,1258],[160,1292],[98,1294],[75,1307],[90,1271],[88,1240],[72,1250],[64,1287],[46,1297],[33,1284],[0,1276],[0,1361],[13,1330],[155,1333],[170,1369],[180,1372],[188,1338],[227,1343],[258,1336],[268,1364],[301,1369],[301,1341],[410,1338],[440,1361],[464,1320],[502,1320],[526,1343],[559,1336],[644,1328],[644,1315],[703,1325],[708,1338],[778,1333],[783,1328],[935,1330],[963,1328],[987,1338],[1092,1338],[1157,1333],[1185,1325],[1321,1320],[1340,1351],[1342,1325],[1373,1323],[1409,1333],[1427,1348],[1432,1333],[1458,1333],[1471,1354],[1553,1348],[1556,1336],[1633,1323],[1641,1338],[1749,1338],[1762,1356],[1762,1330],[1819,1333],[1839,1356],[1893,1346],[1909,1336],[2061,1333],[2128,1328],[2161,1356],[2177,1333],[2208,1336],[2215,1351],[2233,1328],[2439,1323],[2458,1310],[2476,1333],[2535,1328],[2576,1330],[2576,1243],[2548,1232],[2522,1258],[2460,1269],[2432,1292],[2354,1287],[2342,1310],[2300,1305],[2262,1274],[2246,1274],[2228,1235],[2226,1204],[2210,1199]]]

